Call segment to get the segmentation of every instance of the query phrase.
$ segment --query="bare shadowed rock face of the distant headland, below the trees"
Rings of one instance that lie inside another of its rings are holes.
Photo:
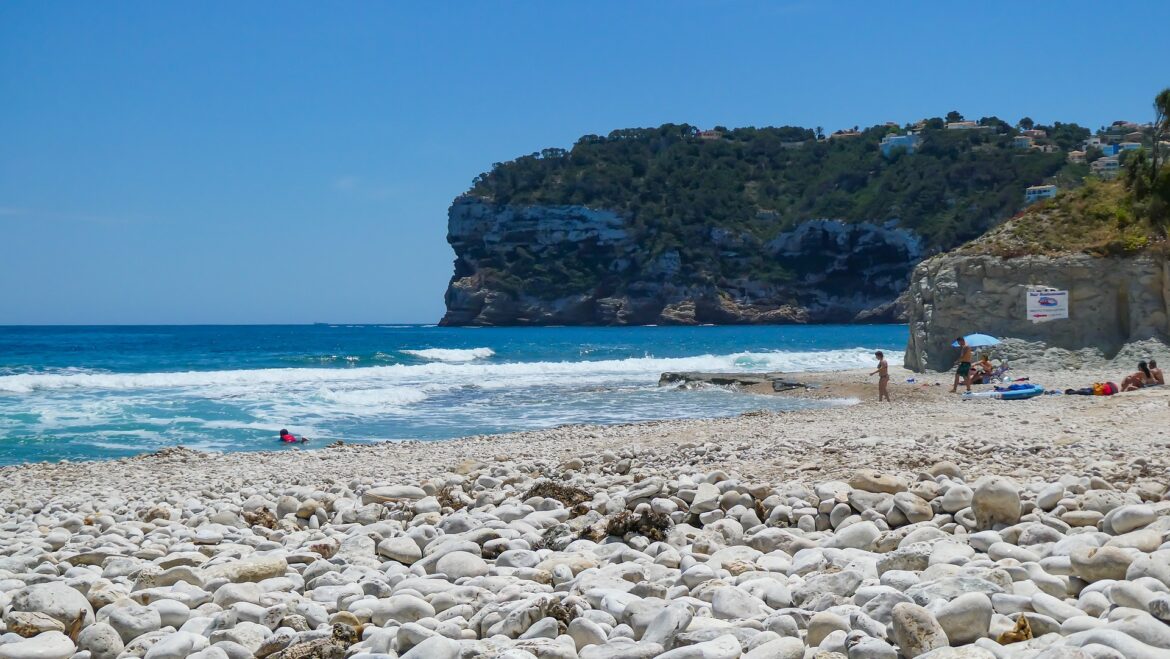
[[[713,227],[695,261],[647,238],[612,211],[461,197],[441,323],[890,322],[923,252],[893,222],[813,220],[766,242]]]

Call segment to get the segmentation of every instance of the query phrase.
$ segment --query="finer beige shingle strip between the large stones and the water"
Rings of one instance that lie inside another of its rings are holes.
[[[1083,370],[1026,375],[1057,390],[1120,379],[1116,373]],[[875,378],[867,377],[865,370],[800,373],[801,382],[815,384],[817,389],[783,396],[855,398],[860,403],[720,419],[571,425],[439,441],[352,444],[308,451],[190,452],[184,460],[214,476],[213,481],[225,479],[222,482],[229,487],[282,478],[290,482],[319,478],[413,481],[467,459],[542,460],[555,466],[605,451],[656,466],[690,465],[785,481],[840,478],[859,466],[913,473],[941,459],[952,460],[975,475],[994,472],[1016,478],[1090,468],[1120,474],[1138,459],[1148,465],[1147,471],[1170,468],[1170,426],[1165,424],[1170,389],[1114,397],[963,400],[949,393],[947,373],[922,376],[892,368],[892,377],[893,404],[874,400]],[[907,383],[908,378],[915,382]],[[717,448],[703,451],[704,445]],[[111,482],[133,489],[154,480],[151,471],[159,461],[166,459],[144,454],[111,461],[7,466],[0,468],[0,500],[20,500],[33,492],[37,496],[102,492]],[[1113,465],[1094,467],[1097,462]]]

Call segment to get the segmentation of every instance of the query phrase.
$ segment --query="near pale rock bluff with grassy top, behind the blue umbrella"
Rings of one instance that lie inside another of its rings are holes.
[[[920,263],[906,295],[906,366],[952,368],[951,342],[971,332],[1004,339],[1000,357],[1051,368],[1113,363],[1133,371],[1137,361],[1164,355],[1165,241],[1127,202],[1120,184],[1093,184]],[[1033,323],[1026,294],[1048,288],[1068,291],[1068,318]]]

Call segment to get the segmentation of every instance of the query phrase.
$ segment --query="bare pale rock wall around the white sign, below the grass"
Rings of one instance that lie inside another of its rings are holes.
[[[1025,294],[1032,287],[1068,290],[1068,320],[1027,321]],[[906,366],[950,369],[958,355],[951,342],[971,332],[1021,339],[1032,349],[1088,349],[1112,359],[1128,343],[1164,342],[1168,303],[1165,258],[943,254],[920,263],[910,280]]]

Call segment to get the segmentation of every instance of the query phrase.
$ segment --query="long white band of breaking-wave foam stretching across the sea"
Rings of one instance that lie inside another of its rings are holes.
[[[487,350],[487,349],[483,349]],[[890,352],[893,362],[900,353]],[[873,364],[867,348],[806,352],[736,352],[697,357],[476,364],[431,362],[351,369],[254,369],[152,373],[21,373],[0,377],[0,393],[85,390],[193,390],[206,398],[256,392],[378,389],[393,386],[524,387],[546,384],[652,383],[663,371],[826,371]],[[338,386],[340,385],[340,387]],[[425,393],[425,392],[424,392]]]

